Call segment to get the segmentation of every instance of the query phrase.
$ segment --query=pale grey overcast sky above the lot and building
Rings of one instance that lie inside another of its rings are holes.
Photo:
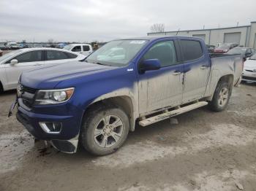
[[[255,0],[0,0],[0,42],[91,42],[165,31],[249,25]]]

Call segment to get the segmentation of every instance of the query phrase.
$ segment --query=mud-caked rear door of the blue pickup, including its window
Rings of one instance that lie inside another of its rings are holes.
[[[206,92],[211,63],[203,42],[194,39],[180,39],[184,62],[184,90],[182,103],[203,98]]]

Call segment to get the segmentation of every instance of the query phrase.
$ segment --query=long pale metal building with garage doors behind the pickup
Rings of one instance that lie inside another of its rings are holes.
[[[244,47],[254,47],[256,49],[256,21],[251,22],[250,26],[148,33],[148,36],[152,35],[195,36],[204,39],[206,44],[215,46],[223,42],[234,42],[243,45]]]

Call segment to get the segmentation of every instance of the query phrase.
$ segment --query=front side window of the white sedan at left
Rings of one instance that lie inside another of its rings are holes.
[[[18,55],[15,58],[12,58],[12,59],[17,59],[18,63],[28,63],[28,62],[42,61],[42,51],[37,50],[37,51],[25,52],[25,53],[23,53],[21,55]],[[7,61],[7,63],[10,63],[11,60]]]

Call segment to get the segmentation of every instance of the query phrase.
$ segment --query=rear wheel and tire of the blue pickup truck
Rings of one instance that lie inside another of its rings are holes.
[[[228,83],[219,82],[214,91],[214,97],[208,104],[209,109],[214,112],[222,112],[227,107],[228,101],[230,100],[230,95],[231,91]]]

